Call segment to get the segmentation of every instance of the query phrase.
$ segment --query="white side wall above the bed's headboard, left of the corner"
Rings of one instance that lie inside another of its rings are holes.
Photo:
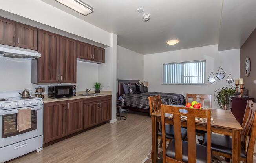
[[[143,80],[143,55],[117,45],[117,79]]]

